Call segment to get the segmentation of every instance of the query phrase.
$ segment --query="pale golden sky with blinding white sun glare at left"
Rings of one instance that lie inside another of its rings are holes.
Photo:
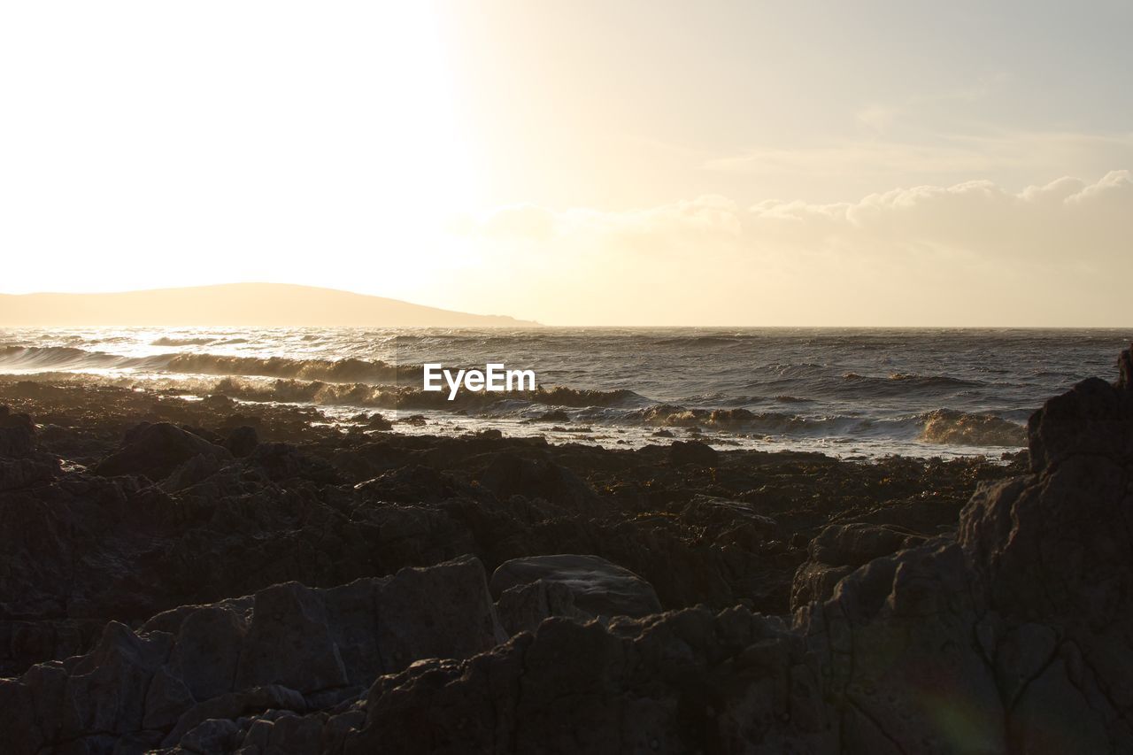
[[[0,291],[1123,326],[1133,3],[0,5]]]

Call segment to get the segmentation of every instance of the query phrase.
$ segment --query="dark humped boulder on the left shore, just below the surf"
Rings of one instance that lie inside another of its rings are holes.
[[[130,431],[122,448],[103,459],[93,472],[107,477],[145,475],[156,481],[169,476],[173,469],[196,456],[219,461],[231,458],[220,446],[168,422],[159,422]]]

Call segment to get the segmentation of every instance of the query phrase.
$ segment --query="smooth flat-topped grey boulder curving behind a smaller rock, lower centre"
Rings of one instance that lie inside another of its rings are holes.
[[[653,585],[597,555],[533,555],[512,559],[492,574],[492,595],[518,585],[545,582],[565,586],[574,606],[591,617],[641,617],[661,612]]]

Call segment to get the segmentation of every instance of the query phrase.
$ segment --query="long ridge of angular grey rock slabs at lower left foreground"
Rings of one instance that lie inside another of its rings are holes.
[[[505,637],[472,558],[329,589],[274,585],[137,631],[112,621],[91,653],[0,680],[6,752],[154,731],[165,747],[223,752],[239,733],[233,719],[305,713],[418,659],[467,658]]]

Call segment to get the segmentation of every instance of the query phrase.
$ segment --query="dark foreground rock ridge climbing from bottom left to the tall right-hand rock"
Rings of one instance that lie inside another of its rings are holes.
[[[199,736],[236,748],[303,731],[327,753],[1130,752],[1131,382],[1048,402],[1034,473],[982,487],[954,536],[825,533],[816,558],[869,560],[793,627],[740,608],[551,618],[380,677],[279,737],[266,715]]]

